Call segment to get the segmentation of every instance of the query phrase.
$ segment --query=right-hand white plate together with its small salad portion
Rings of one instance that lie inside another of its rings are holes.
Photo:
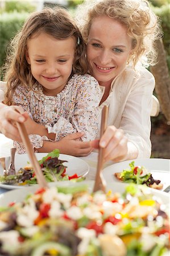
[[[169,159],[135,159],[115,163],[103,170],[107,182],[146,184],[164,190],[170,184]]]

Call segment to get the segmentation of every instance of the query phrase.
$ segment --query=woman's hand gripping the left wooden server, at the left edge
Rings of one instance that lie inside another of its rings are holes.
[[[28,114],[19,106],[0,104],[0,130],[6,137],[22,142],[15,122],[23,123],[27,118]]]

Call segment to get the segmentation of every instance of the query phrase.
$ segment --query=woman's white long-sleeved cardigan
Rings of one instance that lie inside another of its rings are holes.
[[[5,85],[0,82],[0,101],[4,98]],[[109,105],[108,125],[124,131],[128,141],[138,148],[138,158],[150,158],[151,155],[150,113],[154,87],[154,76],[146,68],[138,64],[134,70],[128,65],[113,80],[109,97],[99,107]],[[101,86],[101,90],[104,93],[105,87]]]

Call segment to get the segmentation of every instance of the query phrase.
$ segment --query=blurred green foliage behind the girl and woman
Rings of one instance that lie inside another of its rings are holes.
[[[68,9],[71,13],[74,13],[74,9],[78,4],[84,0],[69,0]],[[169,0],[151,0],[152,8],[154,12],[160,16],[161,26],[164,32],[164,46],[167,52],[167,61],[170,71],[170,4]],[[7,54],[7,47],[10,44],[10,40],[13,39],[16,32],[22,27],[24,20],[29,13],[35,10],[35,5],[32,5],[29,1],[7,1],[5,8],[0,9],[0,67],[5,61]],[[0,79],[2,80],[2,73]]]

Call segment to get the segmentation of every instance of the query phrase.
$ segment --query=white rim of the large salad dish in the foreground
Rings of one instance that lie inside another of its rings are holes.
[[[49,183],[49,187],[52,187],[54,185],[56,185],[56,187],[57,186],[58,187],[68,187],[68,186],[74,187],[74,186],[81,186],[83,184],[87,184],[89,186],[89,191],[92,192],[93,185],[94,185],[93,180],[88,180],[88,181],[84,180],[81,183],[71,183],[69,181],[63,181],[60,183],[59,182]],[[111,191],[113,192],[123,193],[127,185],[128,185],[127,183],[118,183],[113,181],[113,182],[107,183],[106,191],[109,191],[111,189]],[[38,188],[39,188],[39,185],[34,185],[32,187],[24,187],[22,189],[22,193],[20,193],[20,189],[14,189],[13,191],[2,193],[0,195],[0,205],[7,206],[11,202],[17,203],[17,202],[23,201],[29,193],[34,193]],[[165,193],[156,189],[151,189],[148,187],[146,187],[146,190],[151,191],[155,196],[159,196],[161,201],[169,207],[170,195],[168,193]]]

